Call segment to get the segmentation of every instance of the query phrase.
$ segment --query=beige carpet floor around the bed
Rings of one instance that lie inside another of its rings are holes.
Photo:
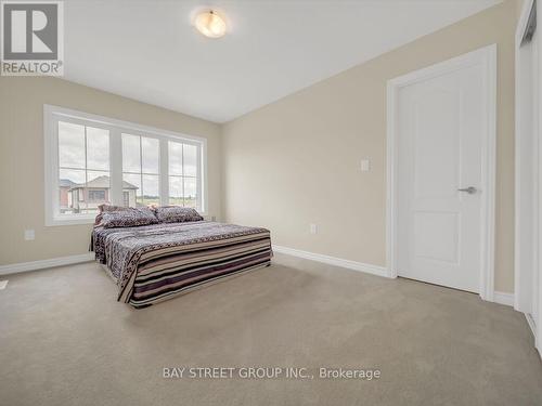
[[[278,254],[144,310],[94,263],[0,291],[0,405],[542,405],[522,314]],[[164,379],[164,367],[377,368],[378,380]]]

